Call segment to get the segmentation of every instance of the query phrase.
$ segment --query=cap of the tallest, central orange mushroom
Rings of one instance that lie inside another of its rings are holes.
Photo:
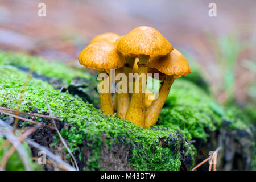
[[[166,55],[172,51],[172,45],[158,30],[145,26],[137,27],[124,35],[117,48],[134,55]]]

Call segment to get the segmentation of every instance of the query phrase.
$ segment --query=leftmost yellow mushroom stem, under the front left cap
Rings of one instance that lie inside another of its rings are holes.
[[[98,74],[100,73],[106,73],[106,71],[98,71]],[[106,73],[106,75],[108,75]],[[110,86],[110,76],[108,76],[107,78],[104,78],[105,79],[108,79],[108,87]],[[104,81],[104,80],[99,80],[99,84]],[[106,85],[106,84],[105,84]],[[104,85],[104,86],[105,86]],[[103,113],[104,114],[107,114],[107,115],[113,115],[114,114],[114,106],[113,106],[113,103],[112,103],[112,97],[111,97],[111,94],[110,94],[110,88],[108,89],[107,93],[104,93],[103,90],[104,88],[100,88],[102,90],[100,90],[99,94],[100,94],[100,105],[101,105],[101,110],[103,110]]]

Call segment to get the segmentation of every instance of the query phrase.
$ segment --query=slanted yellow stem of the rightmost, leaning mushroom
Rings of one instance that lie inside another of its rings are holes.
[[[156,98],[156,100],[154,100],[151,106],[146,110],[146,128],[155,125],[155,123],[158,121],[160,111],[163,108],[164,102],[166,102],[166,98],[170,92],[173,82],[174,76],[166,75],[163,85],[159,89],[158,98]]]

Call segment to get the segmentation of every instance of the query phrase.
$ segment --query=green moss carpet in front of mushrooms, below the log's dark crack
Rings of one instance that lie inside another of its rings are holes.
[[[16,109],[22,85],[26,80],[27,73],[16,68],[0,68],[0,106]],[[180,153],[173,153],[173,144],[163,148],[159,138],[177,136],[176,130],[143,129],[135,126],[134,123],[124,121],[116,117],[106,117],[91,104],[86,104],[81,98],[66,93],[59,93],[47,82],[31,78],[28,82],[26,92],[23,96],[22,111],[31,111],[40,108],[40,113],[47,110],[44,99],[44,91],[52,113],[63,121],[73,125],[71,129],[61,131],[64,138],[68,139],[71,151],[76,154],[77,146],[80,146],[84,139],[92,149],[92,155],[87,162],[88,169],[100,169],[100,150],[102,146],[102,134],[110,143],[114,138],[125,138],[123,142],[131,144],[130,164],[134,169],[143,170],[178,170],[180,167]],[[64,101],[61,99],[75,99]],[[179,141],[175,140],[179,146]]]

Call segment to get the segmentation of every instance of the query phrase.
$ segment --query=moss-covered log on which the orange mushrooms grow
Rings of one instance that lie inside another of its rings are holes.
[[[62,63],[0,52],[0,106],[17,108],[28,69],[34,64],[21,110],[47,114],[44,91],[47,92],[52,113],[61,119],[57,126],[76,156],[80,169],[189,170],[197,156],[197,161],[201,160],[200,148],[207,152],[214,150],[225,143],[216,142],[220,136],[238,129],[246,131],[246,136],[249,136],[250,143],[240,154],[249,155],[248,163],[251,162],[253,154],[246,152],[253,151],[254,147],[250,118],[242,112],[237,116],[240,109],[218,105],[204,90],[183,79],[175,81],[158,124],[144,129],[98,112],[94,107],[98,106],[94,76]],[[226,121],[230,124],[223,127]],[[40,128],[30,137],[72,163],[54,130]],[[222,140],[226,138],[222,137]],[[191,144],[190,140],[196,143]],[[209,143],[210,147],[205,147]],[[222,147],[225,156],[226,146]],[[32,152],[37,154],[35,149]],[[245,166],[237,169],[247,169]],[[236,169],[234,165],[231,168]],[[46,169],[53,168],[47,166]],[[219,169],[225,169],[224,164]]]

